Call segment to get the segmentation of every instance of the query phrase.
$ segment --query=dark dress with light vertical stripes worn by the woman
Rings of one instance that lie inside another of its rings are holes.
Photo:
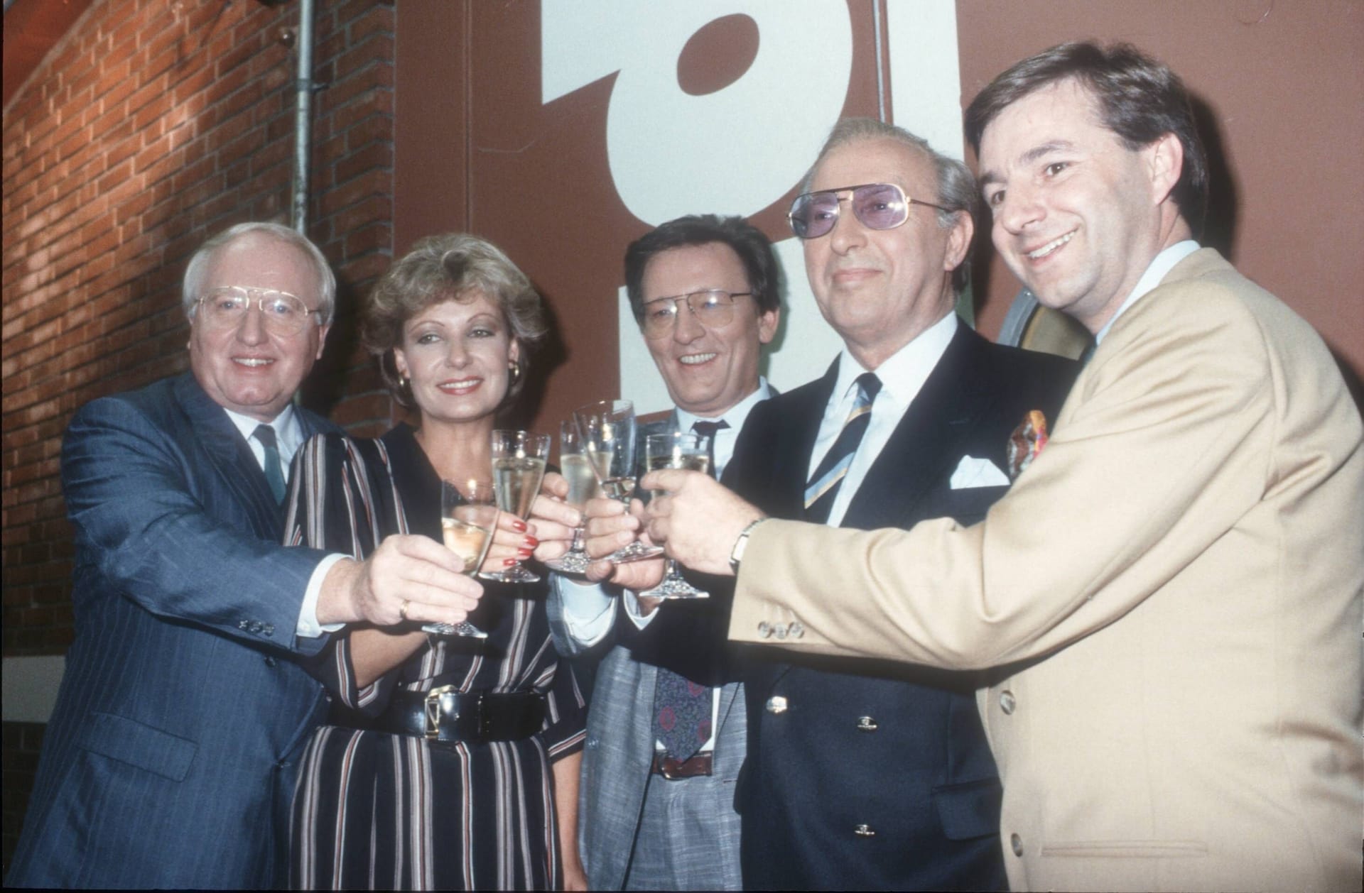
[[[368,555],[390,533],[441,540],[441,483],[406,425],[379,440],[329,435],[299,450],[285,522],[295,545]],[[550,644],[543,584],[486,584],[469,620],[486,641],[431,637],[361,688],[349,639],[315,673],[334,725],[308,743],[291,817],[291,886],[543,890],[562,883],[551,763],[582,747],[587,710]],[[540,691],[547,720],[520,742],[427,742],[360,731],[398,688]]]

